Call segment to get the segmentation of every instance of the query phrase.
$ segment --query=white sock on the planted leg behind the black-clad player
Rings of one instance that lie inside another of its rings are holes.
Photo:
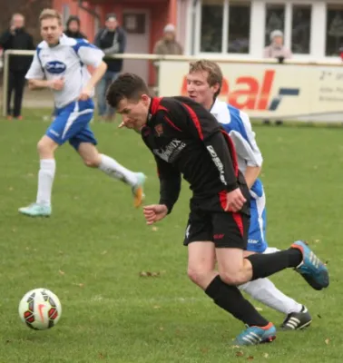
[[[271,309],[284,314],[300,312],[302,305],[282,293],[269,279],[259,279],[240,285],[242,291]]]

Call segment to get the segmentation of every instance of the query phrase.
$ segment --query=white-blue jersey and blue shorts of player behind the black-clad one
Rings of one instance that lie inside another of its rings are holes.
[[[261,166],[262,154],[255,140],[255,132],[251,129],[247,113],[230,104],[216,100],[211,113],[229,133],[234,142],[240,172],[245,173],[247,166]],[[266,240],[266,196],[262,182],[257,179],[250,189],[250,229],[247,250],[264,252],[267,247]]]

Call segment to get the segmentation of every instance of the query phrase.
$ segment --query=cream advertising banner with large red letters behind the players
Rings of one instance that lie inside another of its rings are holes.
[[[251,118],[343,122],[343,64],[220,63],[220,100]],[[188,62],[162,61],[161,96],[187,95]]]

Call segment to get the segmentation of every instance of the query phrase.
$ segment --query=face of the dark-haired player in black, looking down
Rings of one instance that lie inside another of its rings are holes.
[[[122,123],[125,127],[141,132],[148,117],[150,100],[147,94],[142,94],[138,102],[127,98],[122,99],[118,104],[117,113],[122,115]]]

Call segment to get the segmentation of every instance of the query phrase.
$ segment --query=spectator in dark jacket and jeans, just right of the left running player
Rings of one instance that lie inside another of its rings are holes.
[[[94,44],[102,49],[105,55],[124,53],[126,34],[118,25],[116,15],[109,14],[106,16],[105,27],[95,35]],[[122,71],[122,59],[105,58],[104,62],[107,64],[107,71],[98,83],[98,113],[102,119],[111,121],[114,109],[106,105],[106,90]]]

